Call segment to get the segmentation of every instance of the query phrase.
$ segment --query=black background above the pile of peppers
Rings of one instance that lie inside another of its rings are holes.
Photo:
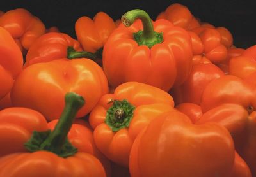
[[[57,26],[61,32],[76,38],[74,24],[81,16],[93,16],[104,11],[114,20],[126,11],[140,8],[148,12],[152,19],[164,11],[170,4],[180,3],[189,8],[202,22],[209,22],[218,27],[227,27],[234,37],[234,45],[247,48],[256,44],[256,0],[254,1],[93,1],[93,0],[55,0],[55,1],[4,1],[2,11],[26,8],[40,18],[46,27]]]

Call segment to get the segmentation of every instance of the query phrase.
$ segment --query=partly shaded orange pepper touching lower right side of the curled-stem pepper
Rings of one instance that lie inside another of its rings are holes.
[[[212,63],[195,64],[188,76],[188,79],[180,86],[173,87],[170,94],[175,104],[190,102],[200,104],[204,88],[209,82],[224,76],[225,73]]]

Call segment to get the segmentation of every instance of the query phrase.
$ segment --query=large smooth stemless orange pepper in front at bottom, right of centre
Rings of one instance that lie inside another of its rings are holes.
[[[193,125],[173,110],[155,118],[132,145],[131,176],[227,176],[234,166],[230,133],[216,123]]]

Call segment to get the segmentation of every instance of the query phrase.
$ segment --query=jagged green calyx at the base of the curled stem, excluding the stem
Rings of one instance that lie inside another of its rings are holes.
[[[154,38],[147,39],[143,36],[143,31],[138,31],[133,34],[134,40],[138,43],[139,46],[147,45],[148,48],[163,42],[163,32],[154,31]]]

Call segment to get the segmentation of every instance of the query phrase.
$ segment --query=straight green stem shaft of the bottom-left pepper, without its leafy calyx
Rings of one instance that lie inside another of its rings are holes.
[[[67,139],[68,132],[72,127],[72,122],[77,111],[84,105],[83,97],[74,92],[69,92],[65,96],[65,108],[61,114],[54,130],[41,145],[42,150],[60,152],[61,147]]]

